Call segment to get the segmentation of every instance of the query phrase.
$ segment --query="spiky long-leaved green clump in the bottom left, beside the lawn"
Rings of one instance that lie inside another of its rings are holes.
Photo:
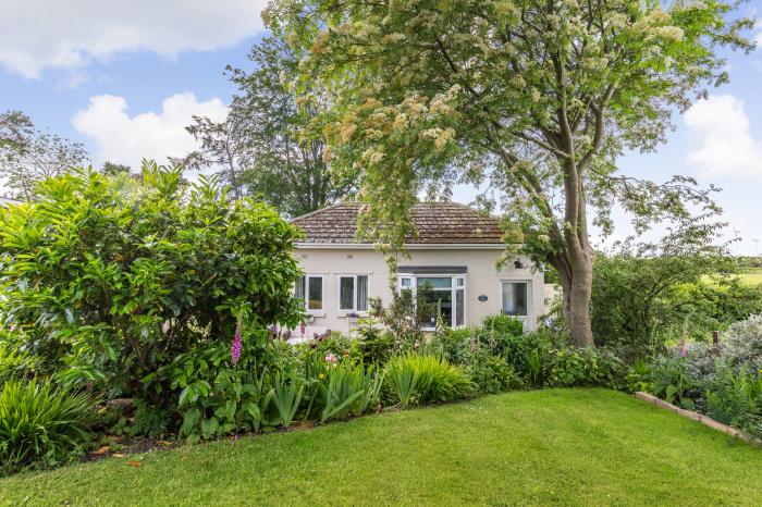
[[[94,401],[50,381],[5,383],[0,392],[0,471],[53,466],[81,456]]]

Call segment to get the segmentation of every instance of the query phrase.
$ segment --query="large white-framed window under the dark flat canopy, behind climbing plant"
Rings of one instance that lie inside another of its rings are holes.
[[[427,304],[422,316],[427,329],[437,326],[438,316],[447,326],[464,325],[466,316],[466,279],[464,276],[400,276],[401,290],[415,290],[417,300]]]

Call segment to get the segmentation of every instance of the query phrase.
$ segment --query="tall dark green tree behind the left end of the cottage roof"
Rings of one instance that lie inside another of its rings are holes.
[[[287,84],[297,72],[296,53],[265,38],[251,48],[251,72],[228,67],[238,88],[228,119],[195,118],[188,127],[201,149],[187,158],[193,168],[219,166],[236,196],[265,199],[296,217],[334,202],[352,189],[323,160],[324,138],[310,122],[325,108],[320,95],[296,100]]]

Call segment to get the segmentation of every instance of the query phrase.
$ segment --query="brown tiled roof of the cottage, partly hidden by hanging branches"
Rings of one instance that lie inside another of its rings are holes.
[[[357,215],[362,203],[342,202],[297,217],[293,223],[306,234],[306,243],[357,242]],[[408,244],[503,243],[500,220],[457,202],[422,202],[410,210],[418,233]]]

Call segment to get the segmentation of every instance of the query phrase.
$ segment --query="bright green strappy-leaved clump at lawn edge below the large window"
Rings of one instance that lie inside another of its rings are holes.
[[[392,358],[384,381],[393,401],[403,407],[453,401],[472,389],[463,369],[430,354],[407,353]]]

